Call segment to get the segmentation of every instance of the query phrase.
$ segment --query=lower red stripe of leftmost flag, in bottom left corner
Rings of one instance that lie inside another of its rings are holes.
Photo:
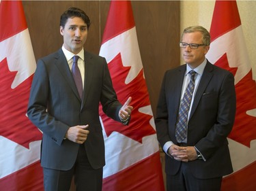
[[[0,179],[0,190],[43,191],[43,173],[40,162],[35,162]]]

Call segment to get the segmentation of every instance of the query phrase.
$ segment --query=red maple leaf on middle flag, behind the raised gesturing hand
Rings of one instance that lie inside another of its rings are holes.
[[[134,141],[142,143],[143,137],[156,134],[156,131],[150,124],[152,116],[149,114],[143,114],[139,111],[142,107],[150,106],[150,98],[147,92],[147,85],[143,78],[143,70],[139,72],[137,77],[129,84],[125,84],[126,76],[130,71],[130,67],[124,67],[122,64],[122,58],[120,54],[117,54],[113,60],[109,63],[109,71],[111,73],[113,87],[117,93],[117,97],[121,103],[132,97],[132,110],[131,120],[128,126],[124,126],[119,122],[108,118],[101,109],[100,116],[104,123],[106,135],[109,137],[113,131],[122,133]],[[150,108],[151,109],[151,108]]]

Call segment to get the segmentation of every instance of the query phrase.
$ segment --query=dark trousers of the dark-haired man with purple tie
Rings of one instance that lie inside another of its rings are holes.
[[[65,160],[65,159],[63,159]],[[69,191],[74,175],[76,191],[101,191],[102,168],[93,169],[89,164],[85,146],[80,145],[74,167],[68,171],[44,168],[45,191]]]

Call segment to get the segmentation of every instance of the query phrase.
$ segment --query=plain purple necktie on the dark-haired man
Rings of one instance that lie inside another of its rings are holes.
[[[76,83],[76,88],[79,90],[79,95],[82,99],[83,97],[83,82],[82,82],[82,77],[81,73],[79,70],[79,66],[77,65],[77,60],[79,60],[79,56],[74,56],[73,57],[73,65],[72,65],[72,74],[74,77],[74,82]]]

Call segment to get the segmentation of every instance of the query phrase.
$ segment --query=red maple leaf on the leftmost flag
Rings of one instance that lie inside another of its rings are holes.
[[[0,63],[0,135],[29,149],[42,133],[27,118],[27,103],[33,75],[12,89],[17,71],[10,71],[7,59]]]

